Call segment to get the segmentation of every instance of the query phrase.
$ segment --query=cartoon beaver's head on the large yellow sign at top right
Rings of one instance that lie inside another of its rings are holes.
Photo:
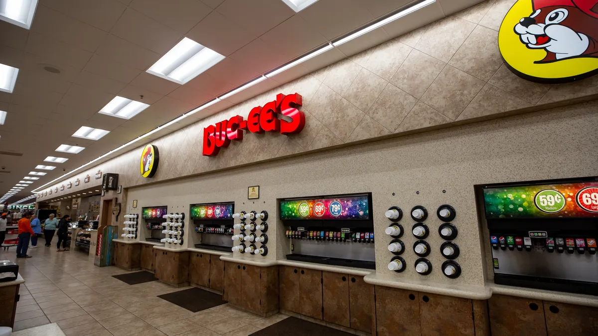
[[[536,9],[515,25],[515,33],[530,49],[544,49],[547,56],[536,63],[572,57],[597,57],[598,19],[573,6]]]

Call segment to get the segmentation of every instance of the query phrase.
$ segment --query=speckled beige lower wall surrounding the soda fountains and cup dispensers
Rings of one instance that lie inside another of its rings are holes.
[[[474,185],[598,175],[594,148],[580,145],[598,140],[597,108],[596,102],[584,103],[130,188],[126,208],[141,212],[142,206],[167,205],[169,212],[188,213],[191,203],[234,201],[236,210],[267,210],[270,242],[266,258],[283,259],[290,247],[285,228],[277,220],[278,198],[371,192],[377,273],[390,274],[397,281],[424,279],[413,267],[416,255],[411,246],[416,239],[408,233],[414,224],[409,216],[400,222],[407,231],[402,237],[407,247],[402,256],[408,264],[404,273],[386,269],[392,254],[386,249],[390,239],[384,234],[388,207],[399,206],[408,213],[411,207],[423,205],[430,212],[425,223],[431,234],[426,240],[434,267],[425,279],[444,287],[483,285],[481,240],[487,237],[480,234]],[[259,200],[247,200],[251,185],[260,185]],[[136,210],[132,209],[135,199]],[[457,213],[453,223],[459,236],[454,242],[461,250],[456,261],[463,274],[456,280],[440,271],[446,259],[440,254],[443,240],[437,230],[441,221],[435,211],[441,204],[451,204]],[[193,247],[193,225],[185,231],[183,247]]]

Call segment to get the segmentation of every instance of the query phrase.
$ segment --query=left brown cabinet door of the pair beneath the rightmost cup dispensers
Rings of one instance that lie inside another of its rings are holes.
[[[378,336],[421,336],[419,294],[376,286],[376,328]]]

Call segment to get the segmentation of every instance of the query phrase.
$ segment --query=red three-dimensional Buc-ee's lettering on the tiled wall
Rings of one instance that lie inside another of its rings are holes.
[[[222,147],[227,147],[231,140],[243,140],[242,130],[251,133],[280,132],[288,135],[299,133],[305,126],[305,115],[299,111],[301,94],[285,96],[279,93],[276,100],[266,105],[252,108],[247,120],[235,115],[203,129],[203,155],[215,156]],[[280,119],[277,115],[281,115]]]

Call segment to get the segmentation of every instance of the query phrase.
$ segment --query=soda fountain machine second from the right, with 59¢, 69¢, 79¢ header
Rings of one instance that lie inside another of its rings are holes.
[[[371,193],[279,200],[289,260],[376,269]]]

